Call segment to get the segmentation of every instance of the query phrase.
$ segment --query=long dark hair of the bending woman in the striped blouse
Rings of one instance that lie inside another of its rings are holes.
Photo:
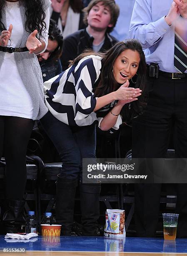
[[[138,97],[138,100],[131,102],[130,104],[125,104],[122,109],[123,118],[131,120],[137,115],[142,114],[142,110],[145,105],[143,92],[145,89],[147,69],[145,54],[139,41],[135,39],[127,39],[125,41],[118,42],[111,49],[105,51],[105,53],[95,53],[93,51],[86,50],[85,52],[80,54],[80,56],[78,56],[74,61],[71,61],[71,64],[76,64],[78,61],[80,61],[80,59],[88,55],[97,55],[102,57],[100,82],[95,90],[95,95],[97,97],[101,97],[119,88],[120,85],[115,81],[112,69],[116,58],[122,53],[122,51],[125,51],[127,49],[137,51],[140,55],[140,63],[137,70],[136,83],[132,83],[130,79],[130,87],[140,88],[142,90],[142,95]],[[133,79],[133,82],[135,82],[134,80],[135,79]]]

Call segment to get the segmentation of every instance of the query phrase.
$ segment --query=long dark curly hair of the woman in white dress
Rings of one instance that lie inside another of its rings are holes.
[[[37,29],[39,38],[42,38],[42,31],[46,30],[45,12],[43,9],[42,0],[20,0],[25,5],[27,17],[25,23],[25,30],[33,32]],[[5,8],[6,1],[0,0],[0,31],[6,30],[5,25],[2,23],[2,10]]]

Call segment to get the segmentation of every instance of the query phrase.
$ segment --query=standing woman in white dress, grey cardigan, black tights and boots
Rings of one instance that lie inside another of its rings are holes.
[[[22,210],[26,149],[34,120],[47,112],[35,54],[45,51],[50,0],[0,1],[0,159],[5,157],[5,233],[17,233]]]

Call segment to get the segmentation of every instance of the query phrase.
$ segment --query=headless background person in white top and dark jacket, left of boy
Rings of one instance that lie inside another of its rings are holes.
[[[56,21],[63,37],[85,28],[82,0],[52,0],[51,18]]]

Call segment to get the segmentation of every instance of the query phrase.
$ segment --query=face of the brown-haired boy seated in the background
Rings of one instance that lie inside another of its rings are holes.
[[[110,20],[110,8],[103,5],[102,1],[94,5],[87,16],[88,26],[97,31],[103,31],[107,27],[112,27],[113,25],[110,23]]]

